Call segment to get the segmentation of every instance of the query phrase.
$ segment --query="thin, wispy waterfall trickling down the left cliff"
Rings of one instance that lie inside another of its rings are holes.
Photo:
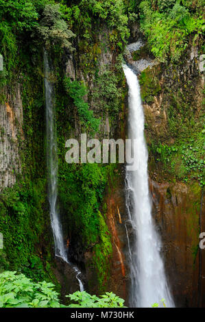
[[[76,278],[80,285],[80,290],[84,290],[82,281],[79,278],[80,270],[73,266],[68,258],[67,251],[64,246],[62,225],[57,208],[58,197],[58,155],[57,155],[57,137],[55,125],[55,104],[54,104],[54,88],[49,81],[51,70],[47,58],[47,53],[44,52],[44,69],[45,69],[45,106],[46,106],[46,134],[47,134],[47,171],[48,171],[48,199],[50,206],[51,227],[53,230],[53,239],[55,244],[56,256],[62,258],[73,267],[76,273]]]

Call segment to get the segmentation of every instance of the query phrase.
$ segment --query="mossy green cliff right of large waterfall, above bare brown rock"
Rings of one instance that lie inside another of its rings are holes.
[[[164,179],[196,180],[204,186],[204,116],[203,101],[197,103],[195,100],[195,88],[198,88],[197,92],[202,90],[197,65],[194,65],[195,76],[191,79],[184,79],[183,72],[179,75],[182,64],[162,66],[148,68],[140,76],[144,103],[151,105],[156,103],[156,97],[162,97],[158,110],[162,129],[158,136],[152,132],[155,127],[152,114],[147,115],[149,125],[145,125],[149,127],[150,167],[160,169]],[[169,75],[168,79],[162,78],[162,68]],[[169,79],[173,79],[171,84],[167,84]]]

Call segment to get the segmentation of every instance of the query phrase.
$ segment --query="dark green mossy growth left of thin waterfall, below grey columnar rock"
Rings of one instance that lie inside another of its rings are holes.
[[[54,280],[51,271],[49,214],[45,208],[45,180],[25,182],[3,190],[0,197],[0,232],[3,249],[0,270],[12,269],[34,280]]]

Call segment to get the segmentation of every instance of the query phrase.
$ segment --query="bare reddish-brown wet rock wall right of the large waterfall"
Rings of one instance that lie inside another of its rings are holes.
[[[204,208],[198,184],[150,181],[153,216],[162,239],[162,254],[173,299],[178,307],[204,305],[205,251],[199,249]],[[200,253],[201,252],[201,253]],[[201,259],[200,259],[201,256]]]

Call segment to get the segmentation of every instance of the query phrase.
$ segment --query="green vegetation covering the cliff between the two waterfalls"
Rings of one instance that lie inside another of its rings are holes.
[[[120,73],[114,76],[113,72],[107,71],[102,75],[95,73],[94,77],[93,92],[86,92],[82,83],[77,80],[71,82],[67,77],[62,77],[62,80],[60,78],[58,82],[59,97],[56,97],[56,109],[58,112],[59,199],[62,220],[69,238],[73,240],[73,248],[76,247],[76,252],[79,247],[77,245],[80,243],[82,251],[92,251],[93,259],[87,263],[88,269],[95,268],[98,288],[104,292],[110,277],[112,245],[106,225],[106,212],[101,209],[101,204],[104,200],[106,184],[109,177],[115,175],[115,168],[113,164],[67,164],[64,160],[66,153],[64,144],[68,138],[68,131],[70,137],[76,137],[76,118],[80,118],[80,122],[77,123],[79,131],[87,132],[89,138],[93,133],[96,135],[99,125],[97,117],[104,118],[105,112],[116,116],[121,108],[121,92],[117,90],[121,79]],[[93,115],[88,103],[89,99],[94,100],[92,106],[96,106],[97,117]],[[73,111],[74,114],[76,111],[75,117],[73,117]],[[99,130],[97,136],[101,137]],[[77,138],[79,138],[78,135]]]

